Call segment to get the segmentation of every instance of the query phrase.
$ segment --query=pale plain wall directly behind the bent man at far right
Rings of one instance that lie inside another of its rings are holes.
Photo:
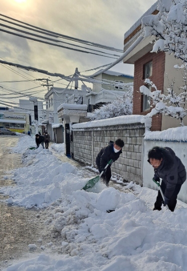
[[[186,142],[176,142],[176,141],[157,141],[157,140],[144,140],[144,151],[143,151],[143,186],[157,189],[157,185],[154,184],[152,178],[154,176],[153,167],[147,162],[147,154],[153,147],[169,147],[171,148],[177,157],[180,158],[181,162],[187,170],[187,144]],[[187,180],[183,183],[181,190],[178,194],[178,199],[187,203]]]

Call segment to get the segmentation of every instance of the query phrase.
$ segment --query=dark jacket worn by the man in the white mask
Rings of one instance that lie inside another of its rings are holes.
[[[120,154],[122,154],[122,151],[119,151],[118,153],[115,153],[113,150],[114,142],[110,141],[108,146],[101,149],[101,151],[98,153],[96,157],[96,164],[98,167],[99,172],[102,172],[107,165],[107,163],[112,159],[113,162],[115,162]]]

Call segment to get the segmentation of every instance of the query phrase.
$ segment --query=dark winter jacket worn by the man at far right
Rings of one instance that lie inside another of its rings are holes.
[[[162,179],[162,182],[166,184],[164,196],[170,199],[176,184],[182,185],[185,182],[186,171],[184,165],[172,149],[165,147],[161,148],[161,151],[163,160],[161,165],[154,169],[154,180],[159,181],[159,178]]]

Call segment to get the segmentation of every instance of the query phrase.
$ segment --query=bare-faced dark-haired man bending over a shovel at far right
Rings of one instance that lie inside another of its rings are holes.
[[[153,210],[160,211],[163,203],[163,206],[167,204],[173,212],[177,195],[186,179],[185,167],[173,150],[168,147],[154,147],[149,150],[148,162],[154,168],[154,180],[159,182],[160,178],[162,179],[161,189],[164,194],[163,201],[161,193],[158,191]]]

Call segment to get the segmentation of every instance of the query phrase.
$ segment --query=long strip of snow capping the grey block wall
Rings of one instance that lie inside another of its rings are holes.
[[[101,127],[109,125],[118,125],[118,124],[131,124],[131,123],[145,123],[145,127],[149,128],[151,126],[151,117],[144,118],[143,115],[125,115],[118,116],[113,118],[106,118],[101,120],[93,120],[89,122],[73,124],[73,129],[81,128],[91,128],[91,127]]]

